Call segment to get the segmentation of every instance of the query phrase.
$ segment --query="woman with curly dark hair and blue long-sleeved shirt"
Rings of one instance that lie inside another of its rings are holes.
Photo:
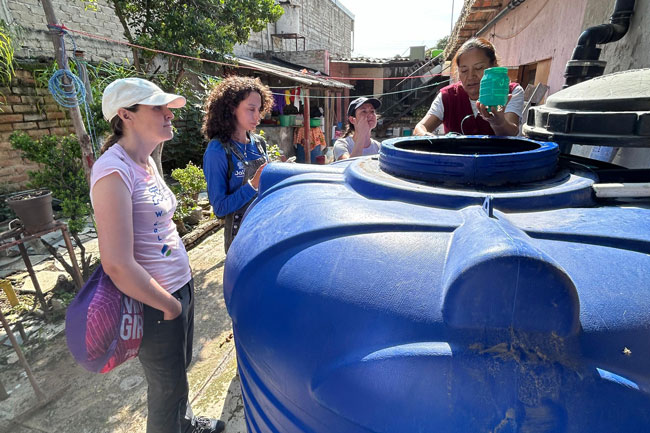
[[[253,131],[272,106],[269,88],[250,77],[224,79],[205,104],[203,133],[210,142],[203,155],[203,172],[214,213],[226,219],[226,253],[257,195],[268,162],[266,143]]]

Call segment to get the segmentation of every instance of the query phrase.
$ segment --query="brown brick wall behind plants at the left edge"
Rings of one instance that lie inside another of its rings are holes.
[[[74,133],[74,128],[48,90],[35,86],[31,72],[17,70],[10,87],[0,88],[0,93],[0,189],[18,191],[29,182],[27,171],[38,166],[23,161],[20,151],[11,147],[11,133],[25,131],[38,138]]]

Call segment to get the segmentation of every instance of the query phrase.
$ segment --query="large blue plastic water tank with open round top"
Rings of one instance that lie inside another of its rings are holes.
[[[249,432],[650,430],[650,209],[553,143],[271,164],[225,266]]]

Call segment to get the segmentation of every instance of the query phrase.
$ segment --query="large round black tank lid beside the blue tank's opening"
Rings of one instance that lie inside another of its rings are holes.
[[[650,147],[650,69],[603,75],[532,107],[523,132],[560,144]]]

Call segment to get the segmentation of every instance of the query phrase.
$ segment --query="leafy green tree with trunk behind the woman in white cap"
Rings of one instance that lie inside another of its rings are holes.
[[[191,58],[210,60],[224,60],[225,55],[232,52],[235,44],[245,43],[251,32],[262,31],[267,23],[277,21],[283,13],[282,7],[274,0],[110,1],[124,28],[124,36],[129,42]],[[158,69],[154,70],[154,57],[151,52],[133,50],[134,65],[140,73],[159,72]],[[157,81],[166,91],[186,94],[185,66],[188,62],[190,64],[196,62],[175,56],[169,56],[166,60],[167,79],[164,80],[165,82]],[[186,109],[177,113],[177,122],[184,122],[188,127],[193,124],[200,125],[203,117],[200,105],[192,98],[188,98]],[[175,140],[166,149],[166,153],[169,153],[172,148],[187,148],[191,149],[191,154],[182,157],[182,163],[188,159],[196,159],[197,153],[199,155],[203,153],[203,149],[196,151],[197,145],[203,142],[199,131],[200,128],[193,134],[185,133],[182,136],[177,134]],[[162,146],[156,148],[152,156],[161,169]],[[173,155],[174,159],[177,156]]]

